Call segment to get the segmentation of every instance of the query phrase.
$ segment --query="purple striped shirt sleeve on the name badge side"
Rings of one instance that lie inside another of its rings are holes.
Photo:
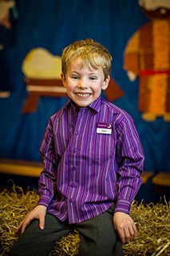
[[[129,214],[139,190],[144,169],[144,151],[132,118],[124,118],[117,126],[117,205],[115,212]]]

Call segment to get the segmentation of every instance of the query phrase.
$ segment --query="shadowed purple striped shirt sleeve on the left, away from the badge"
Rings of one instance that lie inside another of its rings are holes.
[[[53,129],[50,119],[49,124],[45,129],[45,134],[42,138],[42,144],[39,151],[44,164],[44,170],[42,170],[38,182],[38,194],[40,195],[40,199],[37,206],[41,205],[49,208],[49,205],[53,200],[53,194],[56,190],[58,162],[57,154],[55,154],[54,151]]]

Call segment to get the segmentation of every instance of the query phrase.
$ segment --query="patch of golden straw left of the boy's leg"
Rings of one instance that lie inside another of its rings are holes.
[[[36,206],[38,194],[28,190],[26,194],[21,187],[3,190],[0,194],[0,255],[6,255],[18,239],[15,230],[26,214]]]

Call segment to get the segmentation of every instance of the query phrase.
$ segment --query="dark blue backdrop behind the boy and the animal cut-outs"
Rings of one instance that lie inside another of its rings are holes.
[[[125,96],[113,102],[132,115],[144,147],[144,170],[170,171],[170,123],[163,118],[145,122],[138,110],[139,80],[130,82],[123,70],[125,46],[132,34],[148,22],[136,0],[17,0],[18,19],[10,10],[11,28],[0,26],[0,158],[40,161],[39,146],[49,116],[67,98],[42,97],[38,111],[22,114],[26,98],[22,62],[33,48],[43,47],[54,55],[71,42],[93,38],[113,55],[112,77]],[[105,98],[105,94],[103,94]]]

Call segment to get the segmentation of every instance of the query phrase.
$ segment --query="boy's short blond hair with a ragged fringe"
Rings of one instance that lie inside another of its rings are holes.
[[[65,47],[61,55],[61,70],[64,76],[70,62],[73,62],[73,60],[78,57],[81,57],[82,66],[85,64],[94,69],[98,69],[99,66],[101,66],[105,79],[109,76],[112,56],[99,42],[96,42],[93,39],[85,39],[73,42]]]

